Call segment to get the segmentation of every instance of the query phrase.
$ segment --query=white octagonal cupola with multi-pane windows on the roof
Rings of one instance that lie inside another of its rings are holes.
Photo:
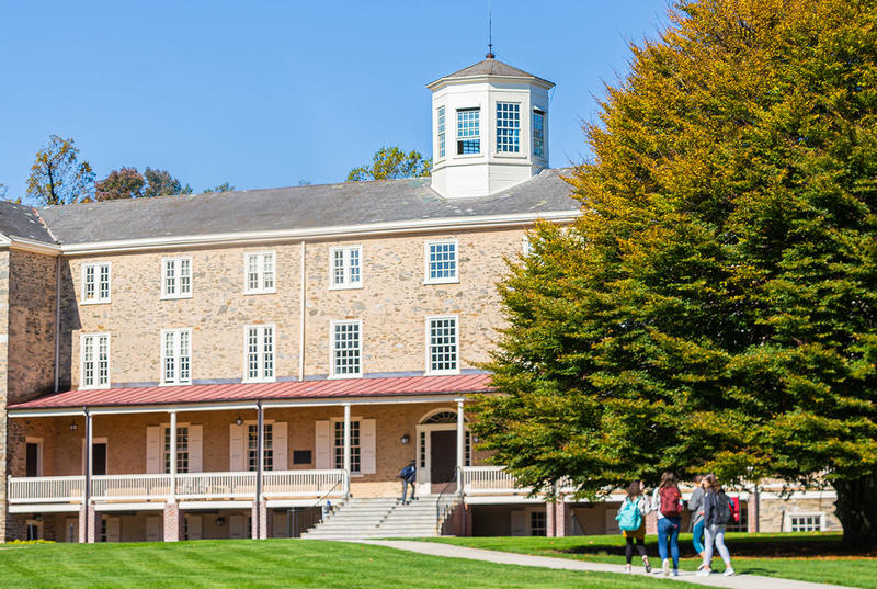
[[[548,167],[548,80],[488,54],[426,86],[432,91],[432,189],[487,196]]]

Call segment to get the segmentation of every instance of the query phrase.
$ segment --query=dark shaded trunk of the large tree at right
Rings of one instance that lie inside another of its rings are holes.
[[[877,548],[877,475],[835,480],[832,486],[844,545],[855,552]]]

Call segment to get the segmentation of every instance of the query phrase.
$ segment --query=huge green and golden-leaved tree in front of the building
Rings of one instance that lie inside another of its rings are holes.
[[[815,477],[877,546],[877,7],[695,0],[631,47],[500,285],[474,431],[524,484]]]

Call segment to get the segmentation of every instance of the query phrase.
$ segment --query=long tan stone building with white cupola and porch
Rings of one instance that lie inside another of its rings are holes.
[[[493,58],[429,84],[431,179],[0,203],[0,537],[613,532],[618,497],[546,505],[466,427],[505,259],[579,214],[553,86]],[[836,526],[832,499],[763,489],[761,528]]]

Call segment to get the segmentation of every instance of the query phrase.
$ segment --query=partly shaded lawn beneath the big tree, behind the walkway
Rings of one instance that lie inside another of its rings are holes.
[[[701,564],[691,547],[691,534],[680,536],[683,559],[680,565],[694,570]],[[579,558],[601,563],[624,564],[624,539],[611,536],[571,537],[441,537],[429,539],[460,546],[489,548],[540,556]],[[850,587],[877,589],[877,555],[851,555],[840,544],[840,534],[728,534],[726,543],[731,551],[733,567],[738,573],[785,577],[815,582],[831,582]],[[660,566],[658,541],[646,539],[652,566]],[[635,557],[637,565],[639,557]],[[716,555],[716,570],[725,565]],[[640,569],[641,570],[641,569]]]

